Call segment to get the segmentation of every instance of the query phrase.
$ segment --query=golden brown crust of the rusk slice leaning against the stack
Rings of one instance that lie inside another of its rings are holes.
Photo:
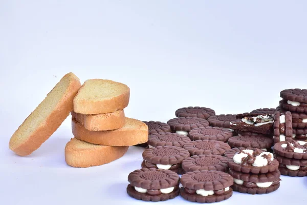
[[[9,148],[16,154],[20,156],[26,156],[38,149],[41,144],[45,142],[58,129],[64,119],[66,119],[70,112],[73,110],[73,99],[80,89],[81,84],[79,78],[73,73],[68,73],[64,75],[63,78],[65,77],[71,78],[70,84],[59,100],[59,103],[49,114],[49,116],[36,128],[34,132],[31,133],[30,136],[27,137],[25,141],[18,141],[16,136],[16,132],[20,129],[22,124],[12,135],[9,142]],[[39,106],[40,105],[38,105],[36,109],[38,109]]]

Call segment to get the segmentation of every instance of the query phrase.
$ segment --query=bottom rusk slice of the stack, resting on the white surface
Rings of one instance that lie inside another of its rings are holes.
[[[65,161],[71,167],[92,167],[104,165],[122,157],[128,146],[112,147],[93,145],[72,138],[65,147]]]

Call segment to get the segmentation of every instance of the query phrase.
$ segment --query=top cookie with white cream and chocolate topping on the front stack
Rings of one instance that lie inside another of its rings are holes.
[[[272,153],[260,149],[242,150],[228,162],[229,168],[233,171],[253,174],[274,172],[278,169],[278,165]]]

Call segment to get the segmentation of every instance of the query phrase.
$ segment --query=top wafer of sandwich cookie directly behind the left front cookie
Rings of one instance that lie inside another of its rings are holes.
[[[181,163],[190,154],[186,149],[175,146],[153,147],[145,149],[143,159],[160,165],[176,165]]]

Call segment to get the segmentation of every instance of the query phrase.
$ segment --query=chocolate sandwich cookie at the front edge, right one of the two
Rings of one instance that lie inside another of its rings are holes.
[[[180,195],[192,202],[212,203],[232,196],[233,177],[219,171],[193,171],[182,175]]]

